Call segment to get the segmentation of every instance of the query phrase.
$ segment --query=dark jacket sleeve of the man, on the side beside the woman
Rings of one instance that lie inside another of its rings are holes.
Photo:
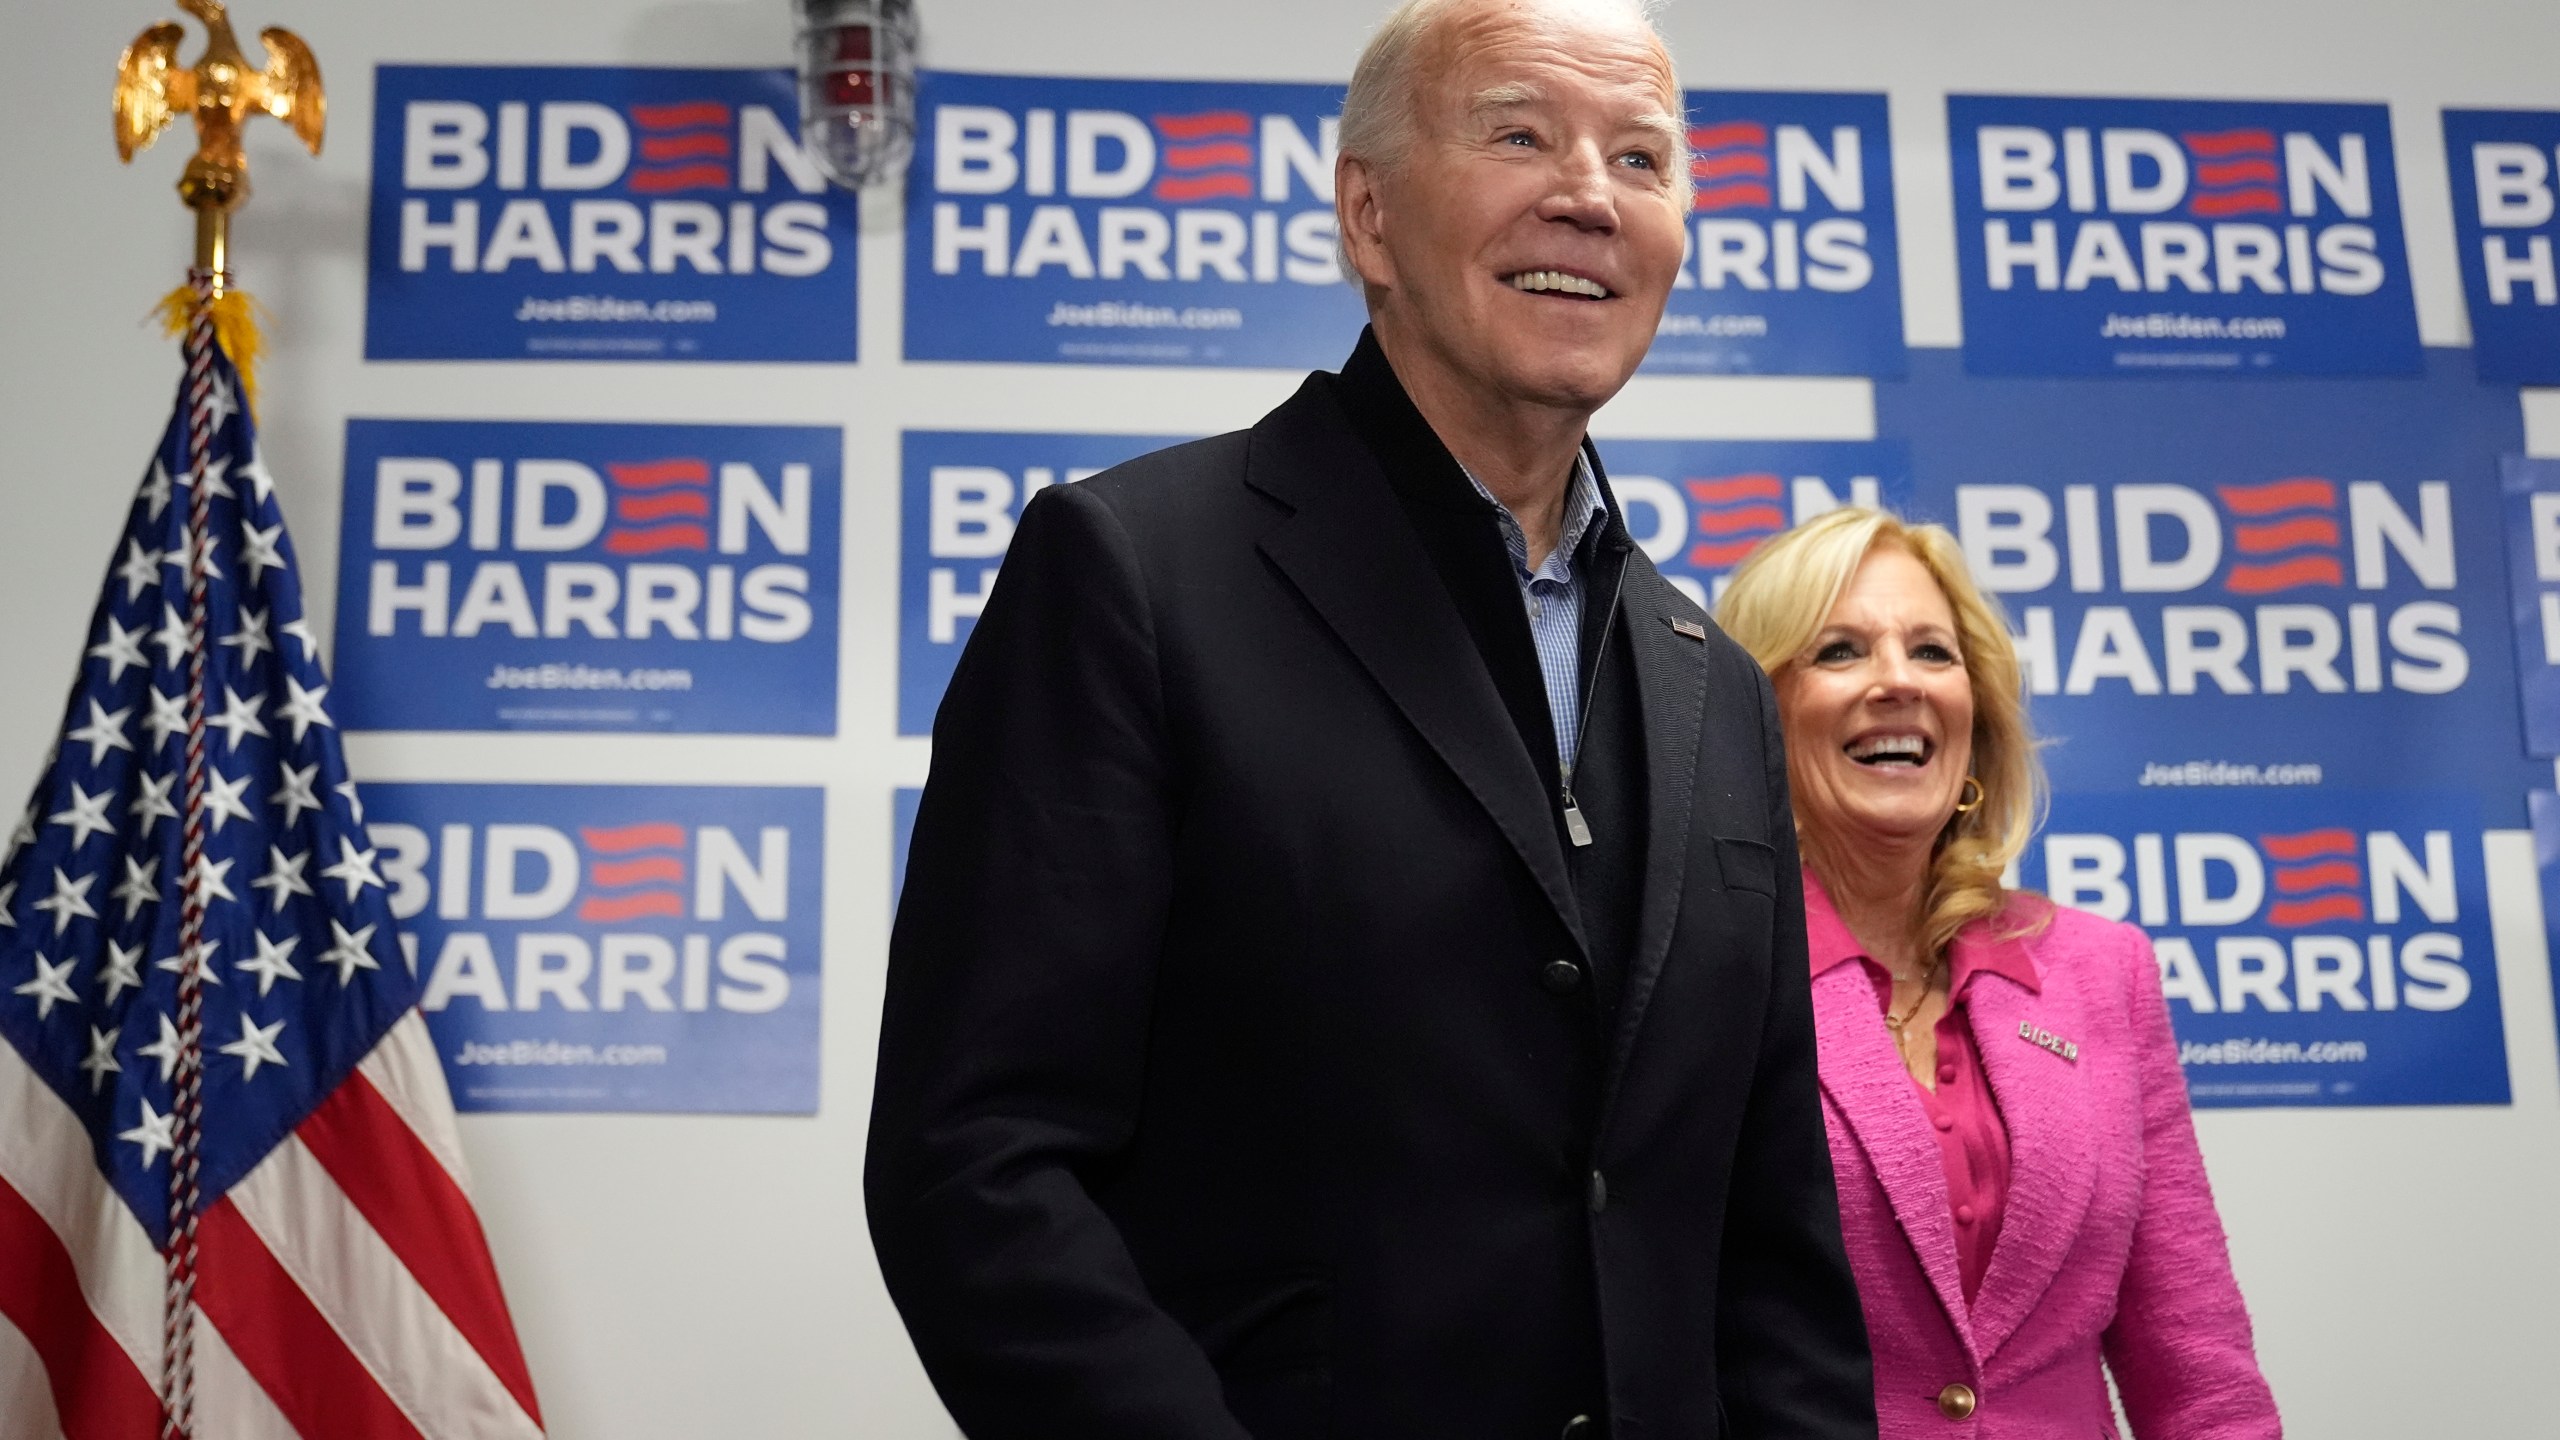
[[[1777,702],[1759,666],[1759,746],[1766,756],[1777,907],[1769,935],[1769,1012],[1733,1150],[1725,1197],[1715,1368],[1728,1435],[1738,1440],[1871,1440],[1874,1361],[1841,1245],[1841,1194],[1823,1135],[1805,961],[1805,884]],[[1741,735],[1736,735],[1741,740]]]

